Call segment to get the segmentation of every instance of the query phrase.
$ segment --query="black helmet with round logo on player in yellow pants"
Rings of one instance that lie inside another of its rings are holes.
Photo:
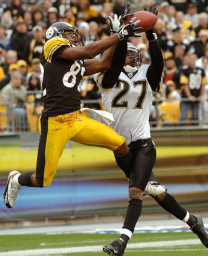
[[[67,31],[72,32],[70,38],[66,34]],[[62,37],[75,46],[82,46],[84,44],[83,35],[78,32],[76,27],[63,21],[56,22],[47,29],[46,41],[52,37]]]

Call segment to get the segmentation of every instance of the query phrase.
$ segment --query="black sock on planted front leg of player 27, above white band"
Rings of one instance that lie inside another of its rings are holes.
[[[133,198],[129,201],[123,228],[128,229],[132,233],[141,214],[142,201]]]

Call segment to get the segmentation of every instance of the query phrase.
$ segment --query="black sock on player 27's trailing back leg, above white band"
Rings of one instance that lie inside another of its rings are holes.
[[[155,200],[162,206],[162,208],[177,217],[177,219],[183,221],[186,217],[187,211],[181,207],[170,194],[166,193],[165,198],[162,201],[157,198],[155,198]]]

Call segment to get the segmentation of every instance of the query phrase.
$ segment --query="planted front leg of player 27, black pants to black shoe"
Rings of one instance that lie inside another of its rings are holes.
[[[132,237],[135,225],[142,208],[142,197],[155,162],[155,147],[151,139],[130,144],[133,153],[133,169],[129,178],[129,204],[121,235],[111,244],[104,246],[103,251],[114,252],[112,255],[123,255],[128,240]],[[135,153],[134,153],[135,152]]]

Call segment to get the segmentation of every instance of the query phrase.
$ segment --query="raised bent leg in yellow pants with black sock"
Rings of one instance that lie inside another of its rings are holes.
[[[129,177],[132,155],[125,144],[125,138],[106,124],[88,118],[83,114],[80,114],[79,117],[80,121],[75,123],[79,132],[71,140],[88,146],[112,150],[119,167]]]

